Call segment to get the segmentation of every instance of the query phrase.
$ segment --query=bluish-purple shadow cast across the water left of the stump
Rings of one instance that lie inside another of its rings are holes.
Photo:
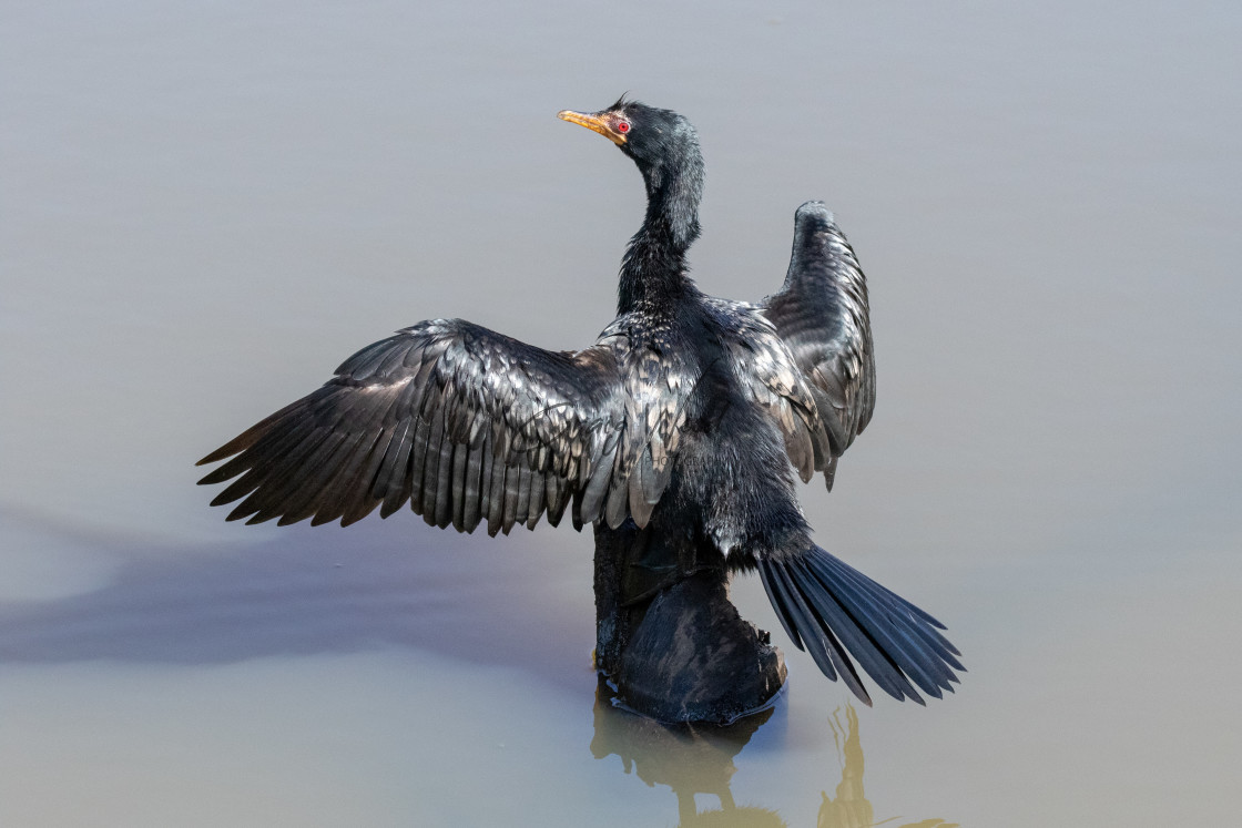
[[[15,528],[32,549],[73,539],[2,506],[0,521],[0,549]],[[468,538],[356,529],[348,544],[298,530],[220,549],[101,544],[97,556],[117,564],[94,588],[0,601],[0,664],[226,664],[400,647],[578,688],[594,632],[590,591],[539,596],[561,577],[589,582],[590,559],[563,557],[534,536],[484,557]]]

